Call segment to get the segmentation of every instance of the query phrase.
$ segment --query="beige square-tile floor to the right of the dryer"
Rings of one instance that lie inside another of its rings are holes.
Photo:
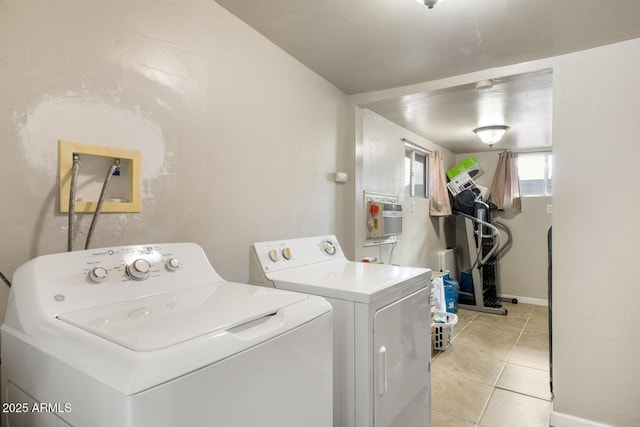
[[[458,311],[431,365],[432,427],[548,427],[547,307],[505,303],[506,316]]]

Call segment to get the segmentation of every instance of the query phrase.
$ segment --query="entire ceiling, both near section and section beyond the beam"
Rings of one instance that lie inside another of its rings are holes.
[[[640,0],[441,0],[433,9],[415,0],[217,1],[348,94],[640,37]],[[501,148],[544,147],[551,79],[518,76],[484,92],[459,87],[369,107],[455,152],[477,144],[470,130],[501,109],[505,122],[491,124],[512,128]]]

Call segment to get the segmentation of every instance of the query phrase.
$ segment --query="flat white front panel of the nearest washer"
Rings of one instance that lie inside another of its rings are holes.
[[[332,426],[329,328],[331,318],[325,315],[175,383],[136,395],[132,425]],[[158,402],[172,402],[174,409],[159,407]]]

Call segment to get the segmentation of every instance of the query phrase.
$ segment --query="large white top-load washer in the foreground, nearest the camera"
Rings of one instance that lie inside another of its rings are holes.
[[[224,281],[193,243],[35,258],[2,325],[2,424],[332,424],[332,309]]]

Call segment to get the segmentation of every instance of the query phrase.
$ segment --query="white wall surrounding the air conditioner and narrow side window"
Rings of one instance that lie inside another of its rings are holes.
[[[429,200],[404,195],[405,143],[402,138],[427,150],[439,150],[446,167],[455,164],[455,155],[442,147],[369,111],[362,111],[362,141],[356,193],[355,259],[376,257],[385,263],[436,269],[436,254],[455,244],[453,218],[431,218]],[[402,203],[402,235],[393,249],[390,244],[365,246],[365,206],[363,191],[399,196]]]

